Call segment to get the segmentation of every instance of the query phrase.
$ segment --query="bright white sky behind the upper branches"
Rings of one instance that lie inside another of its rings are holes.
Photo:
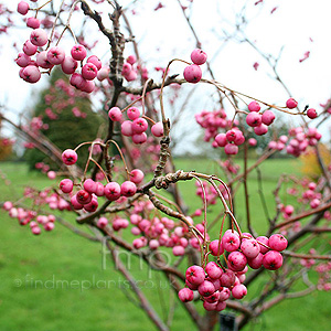
[[[19,1],[2,1],[11,9],[15,9]],[[28,1],[29,2],[29,1]],[[55,1],[56,2],[56,1]],[[126,7],[132,1],[120,1]],[[137,1],[138,3],[139,1]],[[177,0],[161,1],[163,9],[153,11],[160,1],[145,0],[136,6],[136,15],[130,17],[136,40],[140,44],[141,58],[147,63],[152,76],[158,79],[159,74],[152,73],[153,66],[166,66],[172,57],[190,61],[190,53],[195,47],[192,33],[183,20]],[[277,54],[285,46],[278,71],[289,87],[292,96],[302,108],[306,104],[320,110],[319,104],[324,103],[331,95],[331,46],[330,46],[330,12],[331,1],[328,0],[265,0],[264,4],[254,6],[255,0],[194,0],[191,12],[192,23],[202,42],[203,50],[213,60],[213,70],[216,79],[236,90],[261,98],[269,103],[282,104],[287,99],[285,90],[268,77],[270,68],[267,63],[249,46],[236,42],[220,42],[218,35],[223,31],[233,32],[236,14],[246,3],[246,17],[249,21],[246,34],[266,53]],[[42,3],[42,1],[39,1]],[[188,4],[188,0],[182,0]],[[273,8],[278,7],[274,14]],[[82,13],[75,13],[74,20],[81,22]],[[74,25],[73,21],[73,25]],[[95,24],[88,25],[90,35],[96,35]],[[110,25],[109,25],[110,26]],[[75,28],[75,26],[74,26]],[[19,78],[19,67],[13,62],[17,52],[12,51],[13,41],[23,43],[29,31],[21,29],[8,38],[0,35],[2,68],[0,102],[7,103],[18,111],[29,105],[31,94],[42,88],[41,82],[29,85]],[[310,41],[310,38],[313,42]],[[71,41],[72,42],[72,41]],[[156,51],[156,50],[159,51]],[[222,50],[221,50],[222,49]],[[125,55],[131,53],[128,45]],[[216,55],[216,52],[220,51]],[[302,63],[299,58],[310,51],[310,57]],[[107,40],[99,39],[97,55],[107,63]],[[253,63],[259,62],[258,71],[254,71]],[[175,64],[171,73],[182,73],[183,65]],[[190,92],[186,86],[184,92]],[[212,87],[197,87],[206,96],[200,104],[195,104],[193,113],[202,107],[213,109],[215,105],[209,98]],[[192,116],[191,116],[192,118]],[[192,120],[193,122],[193,120]]]

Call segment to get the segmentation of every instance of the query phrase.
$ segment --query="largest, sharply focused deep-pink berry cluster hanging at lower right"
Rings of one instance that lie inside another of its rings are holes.
[[[242,299],[247,295],[247,288],[243,284],[248,268],[276,270],[282,265],[282,256],[279,252],[287,247],[287,239],[280,234],[274,234],[269,238],[265,236],[256,239],[249,233],[243,234],[241,239],[236,232],[226,231],[221,243],[211,242],[210,254],[220,256],[224,250],[228,252],[227,267],[224,268],[215,261],[206,264],[205,268],[191,266],[185,273],[186,287],[179,291],[179,298],[183,302],[192,301],[197,290],[203,300],[205,310],[224,310],[226,300],[231,297]]]

